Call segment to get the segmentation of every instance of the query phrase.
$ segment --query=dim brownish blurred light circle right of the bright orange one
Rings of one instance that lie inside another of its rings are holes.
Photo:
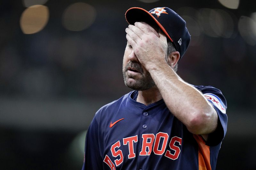
[[[75,3],[68,6],[62,16],[63,26],[70,31],[82,31],[92,25],[96,10],[86,3]]]

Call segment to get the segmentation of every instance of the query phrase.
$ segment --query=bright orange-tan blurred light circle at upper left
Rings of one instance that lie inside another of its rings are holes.
[[[23,11],[20,17],[20,28],[25,34],[37,33],[46,26],[48,20],[48,7],[33,5]]]

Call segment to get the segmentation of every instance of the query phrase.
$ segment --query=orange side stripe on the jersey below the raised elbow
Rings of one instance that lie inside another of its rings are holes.
[[[199,170],[212,170],[210,163],[210,146],[207,146],[200,135],[193,135],[198,144],[198,168]]]

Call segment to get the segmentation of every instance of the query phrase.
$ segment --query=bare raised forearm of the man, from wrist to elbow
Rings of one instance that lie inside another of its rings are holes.
[[[167,63],[148,70],[166,106],[193,134],[208,134],[217,127],[218,115],[203,94],[183,81]]]

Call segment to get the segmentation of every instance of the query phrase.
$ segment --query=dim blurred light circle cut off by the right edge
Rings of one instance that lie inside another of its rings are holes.
[[[241,16],[238,21],[238,30],[247,44],[256,45],[256,21],[254,19]]]

